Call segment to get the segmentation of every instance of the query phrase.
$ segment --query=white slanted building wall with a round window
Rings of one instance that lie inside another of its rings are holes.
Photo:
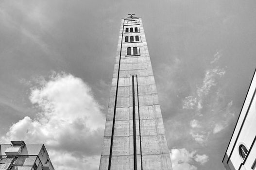
[[[222,163],[226,170],[256,170],[256,74]]]

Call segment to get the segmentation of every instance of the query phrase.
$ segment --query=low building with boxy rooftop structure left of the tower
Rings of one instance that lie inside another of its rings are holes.
[[[0,144],[0,170],[54,170],[44,144]]]

